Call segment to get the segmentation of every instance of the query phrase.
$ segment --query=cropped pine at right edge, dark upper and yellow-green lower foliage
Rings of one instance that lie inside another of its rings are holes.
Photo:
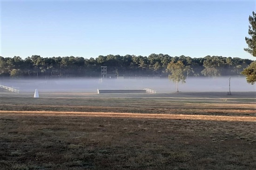
[[[256,13],[254,11],[252,12],[252,16],[249,16],[249,23],[248,34],[251,38],[245,37],[248,48],[244,48],[244,50],[249,52],[253,57],[256,57]],[[242,74],[246,76],[247,82],[254,84],[256,82],[256,61],[250,63],[250,65],[242,71]]]

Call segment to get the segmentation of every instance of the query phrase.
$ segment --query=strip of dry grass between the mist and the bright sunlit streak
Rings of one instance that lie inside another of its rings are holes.
[[[64,93],[55,97],[54,94],[42,94],[38,99],[33,95],[28,97],[31,94],[13,94],[0,98],[0,110],[256,116],[256,100],[251,98],[256,93],[231,95],[232,98],[225,101],[226,94],[218,94],[219,98],[215,93],[203,94],[201,98],[192,94],[142,94],[144,96],[140,97],[141,94]]]

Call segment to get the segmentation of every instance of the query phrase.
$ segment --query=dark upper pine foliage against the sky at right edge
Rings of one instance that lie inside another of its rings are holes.
[[[245,37],[248,48],[244,48],[244,50],[256,57],[256,13],[254,11],[252,12],[252,16],[249,16],[249,23],[248,34],[251,38]]]

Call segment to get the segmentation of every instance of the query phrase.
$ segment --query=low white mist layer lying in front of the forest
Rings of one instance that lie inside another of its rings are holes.
[[[16,88],[20,93],[34,91],[40,92],[97,92],[97,89],[143,89],[151,88],[157,93],[170,93],[176,91],[176,84],[168,78],[158,79],[1,79],[0,85]],[[256,91],[256,84],[246,82],[245,77],[231,77],[231,92]],[[228,92],[229,77],[191,77],[186,83],[179,83],[181,92]]]

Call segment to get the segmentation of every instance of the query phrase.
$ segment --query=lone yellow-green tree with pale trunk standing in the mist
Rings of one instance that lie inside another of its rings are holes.
[[[171,73],[168,78],[172,80],[173,82],[176,82],[176,90],[179,92],[178,89],[178,83],[182,81],[182,83],[185,83],[186,76],[184,76],[186,72],[186,67],[182,61],[177,61],[177,63],[174,63],[174,61],[168,63],[166,71],[168,73]]]

